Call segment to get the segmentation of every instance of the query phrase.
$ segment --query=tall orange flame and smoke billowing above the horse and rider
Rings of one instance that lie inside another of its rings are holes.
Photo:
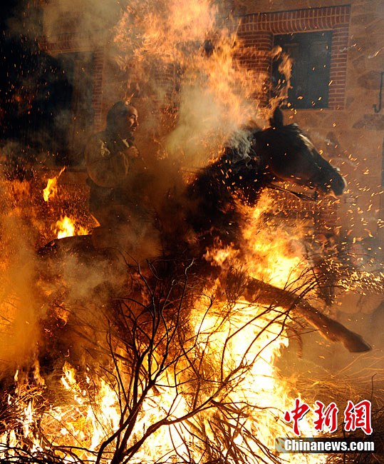
[[[241,63],[241,40],[217,18],[208,0],[137,0],[116,27],[120,66],[130,72],[128,88],[147,84],[154,95],[147,106],[180,108],[166,146],[169,156],[187,166],[207,163],[229,134],[261,114],[257,95],[268,76]],[[247,49],[251,59],[257,54]],[[168,84],[159,85],[154,74],[159,68],[174,70]],[[167,85],[180,86],[180,93],[167,91]]]

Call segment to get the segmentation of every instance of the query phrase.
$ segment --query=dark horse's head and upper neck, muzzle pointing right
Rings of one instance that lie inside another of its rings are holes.
[[[340,196],[346,188],[338,169],[318,153],[296,124],[274,124],[263,131],[248,129],[236,135],[213,167],[215,177],[222,177],[219,183],[240,193],[249,203],[255,203],[261,188],[274,180],[290,181],[333,196]]]

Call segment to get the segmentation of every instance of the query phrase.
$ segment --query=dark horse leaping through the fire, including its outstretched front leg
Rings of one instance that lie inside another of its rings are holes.
[[[291,181],[335,196],[346,186],[338,170],[321,157],[299,126],[284,126],[279,109],[270,128],[246,129],[236,134],[236,139],[228,143],[217,161],[197,173],[181,198],[167,198],[167,213],[161,208],[158,212],[168,261],[177,261],[180,256],[185,261],[193,258],[197,273],[206,278],[222,270],[207,263],[204,254],[218,241],[241,253],[243,217],[239,204],[256,205],[261,190],[273,181]],[[39,252],[43,257],[77,255],[82,263],[87,259],[95,262],[95,258],[105,256],[103,253],[93,248],[89,236],[55,240]],[[250,302],[293,311],[328,340],[341,341],[352,352],[370,349],[358,334],[324,316],[296,293],[244,276],[242,295]]]

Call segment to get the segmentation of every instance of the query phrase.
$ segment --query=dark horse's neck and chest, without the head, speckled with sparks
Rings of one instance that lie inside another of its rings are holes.
[[[217,243],[237,243],[243,222],[239,203],[256,204],[263,174],[253,158],[233,163],[224,156],[201,171],[182,197],[175,199],[177,208],[171,208],[173,216],[167,218],[170,227],[162,231],[167,247],[201,257]]]

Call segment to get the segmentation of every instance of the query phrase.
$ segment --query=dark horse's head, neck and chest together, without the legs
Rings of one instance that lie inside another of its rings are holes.
[[[273,181],[291,181],[334,196],[341,196],[346,186],[338,170],[321,157],[299,126],[283,125],[279,109],[271,128],[246,129],[237,139],[186,191],[194,205],[187,223],[199,236],[200,253],[217,238],[224,246],[236,245],[242,213],[235,198],[255,206],[261,190]]]

